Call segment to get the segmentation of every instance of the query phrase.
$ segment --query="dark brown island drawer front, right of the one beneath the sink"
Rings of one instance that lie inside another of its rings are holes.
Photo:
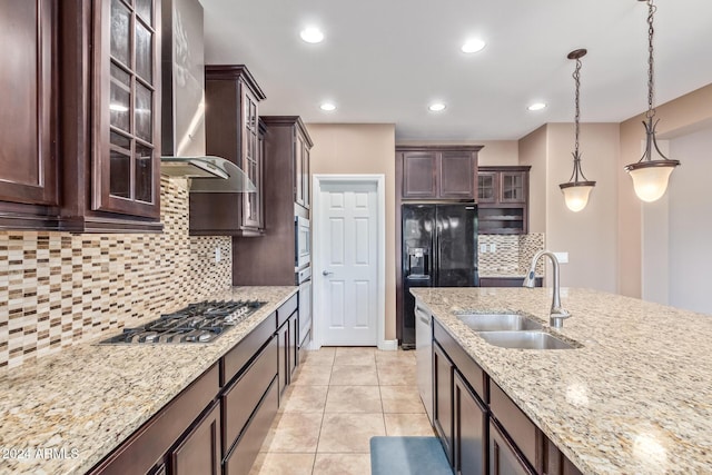
[[[490,384],[490,409],[530,464],[536,466],[537,444],[542,442],[538,429],[496,383]]]

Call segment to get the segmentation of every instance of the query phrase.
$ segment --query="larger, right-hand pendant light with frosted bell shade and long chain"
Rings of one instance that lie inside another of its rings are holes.
[[[653,6],[653,0],[639,0],[647,2],[647,112],[645,112],[645,120],[643,126],[645,127],[645,151],[641,159],[631,165],[625,166],[625,171],[631,175],[633,179],[633,189],[635,195],[643,201],[655,201],[660,199],[668,189],[668,180],[672,170],[680,165],[679,160],[670,160],[665,155],[660,151],[657,147],[657,140],[655,139],[655,127],[660,119],[653,121],[655,118],[655,108],[653,107],[653,14],[656,8]],[[653,147],[655,151],[663,158],[662,160],[653,160]]]

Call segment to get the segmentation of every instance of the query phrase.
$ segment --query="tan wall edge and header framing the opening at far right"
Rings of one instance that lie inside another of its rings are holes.
[[[659,137],[666,139],[681,137],[710,126],[712,123],[712,85],[659,106],[656,117],[661,119],[657,126]],[[641,157],[641,141],[645,139],[645,132],[641,125],[643,119],[644,113],[641,113],[621,123],[621,148],[616,167],[619,178],[619,293],[631,297],[642,295],[641,218],[643,205],[635,197],[632,181],[623,167],[637,161]],[[684,160],[682,161],[682,166],[684,166]]]

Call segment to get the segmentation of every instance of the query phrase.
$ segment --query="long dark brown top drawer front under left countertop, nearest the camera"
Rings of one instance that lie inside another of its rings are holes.
[[[218,366],[214,365],[89,473],[148,472],[217,394]]]

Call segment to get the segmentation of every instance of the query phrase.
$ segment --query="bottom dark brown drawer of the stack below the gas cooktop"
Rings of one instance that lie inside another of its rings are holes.
[[[226,457],[224,475],[247,475],[250,472],[259,448],[267,437],[271,422],[277,415],[278,399],[277,378],[274,378],[243,436],[230,455]]]

